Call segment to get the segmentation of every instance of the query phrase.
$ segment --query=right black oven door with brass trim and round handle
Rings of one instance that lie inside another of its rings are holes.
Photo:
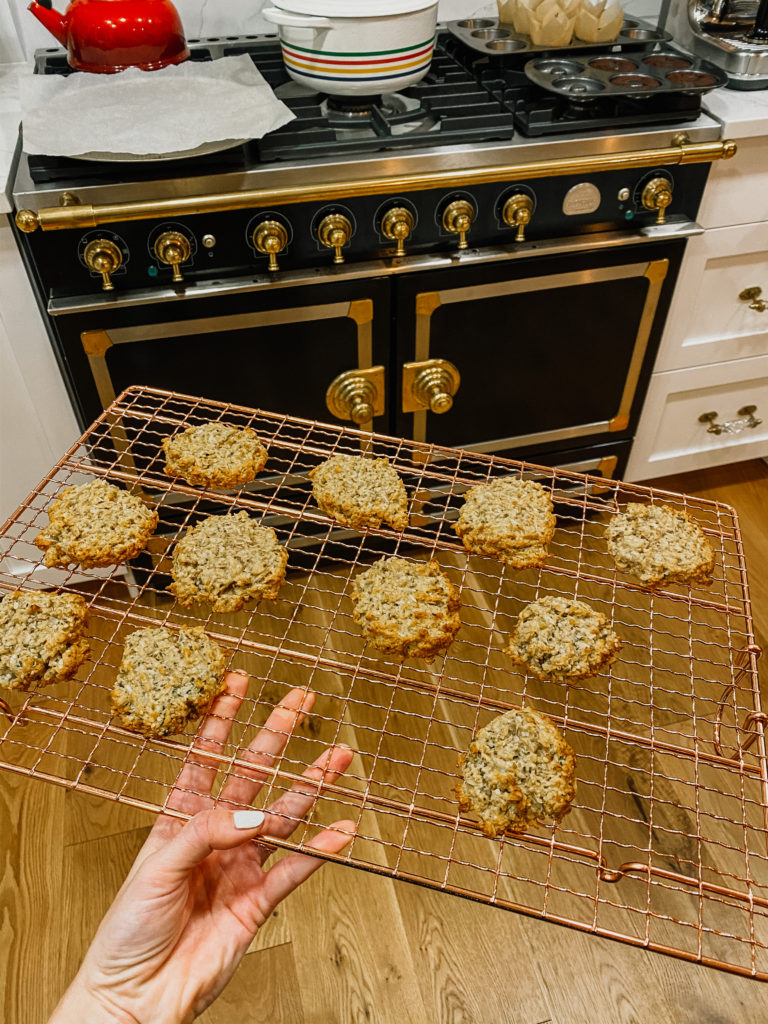
[[[630,438],[684,247],[587,237],[564,255],[401,279],[396,433],[510,456]]]

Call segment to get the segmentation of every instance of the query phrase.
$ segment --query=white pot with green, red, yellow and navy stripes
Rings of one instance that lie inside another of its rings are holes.
[[[272,3],[261,14],[279,27],[288,74],[307,88],[342,96],[379,95],[398,92],[427,73],[437,0]]]

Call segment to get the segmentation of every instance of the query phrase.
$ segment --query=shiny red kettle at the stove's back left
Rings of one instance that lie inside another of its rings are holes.
[[[171,0],[72,0],[65,14],[51,0],[33,0],[29,9],[67,47],[78,71],[156,71],[189,56]]]

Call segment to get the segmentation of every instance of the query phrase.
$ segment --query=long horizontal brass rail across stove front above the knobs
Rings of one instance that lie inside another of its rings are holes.
[[[665,164],[705,164],[729,160],[736,152],[732,141],[673,144],[636,153],[597,154],[558,160],[536,160],[497,167],[452,169],[432,173],[397,174],[380,178],[353,178],[349,181],[325,182],[321,189],[325,203],[376,196],[381,193],[408,193],[428,188],[461,188],[468,185],[495,184],[501,181],[552,178],[567,174],[599,174],[602,171],[626,171],[633,168],[656,167]],[[23,231],[57,231],[72,227],[97,227],[124,220],[175,218],[198,213],[223,213],[230,210],[257,210],[264,207],[288,206],[313,202],[318,197],[316,182],[289,185],[283,188],[246,189],[213,193],[206,196],[176,197],[165,200],[142,200],[134,203],[108,203],[93,206],[76,203],[67,207],[47,207],[35,212],[19,210],[16,225]]]

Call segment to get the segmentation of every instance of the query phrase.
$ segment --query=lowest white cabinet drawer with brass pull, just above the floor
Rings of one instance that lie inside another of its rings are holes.
[[[755,420],[740,413],[756,406]],[[715,423],[731,429],[712,433],[699,422],[717,413]],[[695,370],[654,374],[627,467],[629,480],[644,480],[703,466],[719,466],[768,455],[768,355],[736,359]]]

